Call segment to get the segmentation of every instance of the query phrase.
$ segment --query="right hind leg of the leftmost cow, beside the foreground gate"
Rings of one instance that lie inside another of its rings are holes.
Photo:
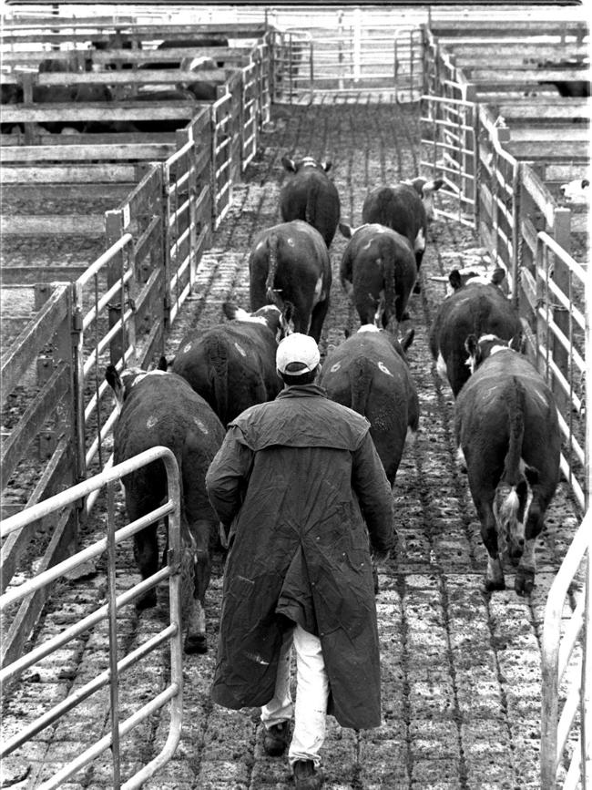
[[[184,550],[181,587],[184,604],[183,619],[186,630],[184,649],[187,653],[205,653],[208,651],[205,600],[211,573],[209,559],[209,536],[211,530],[212,524],[210,521],[199,520],[195,522],[190,528],[191,537],[194,541],[190,552],[191,561],[189,561],[188,547]]]

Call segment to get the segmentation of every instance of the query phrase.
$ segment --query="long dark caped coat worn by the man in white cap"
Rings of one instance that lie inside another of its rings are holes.
[[[391,548],[393,498],[369,427],[316,385],[230,423],[206,477],[231,525],[215,702],[270,702],[289,618],[321,638],[329,712],[354,729],[381,723],[368,532],[373,549]]]

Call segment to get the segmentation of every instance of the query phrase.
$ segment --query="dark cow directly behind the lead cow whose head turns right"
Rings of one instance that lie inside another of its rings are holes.
[[[360,316],[360,323],[382,329],[408,317],[407,303],[417,276],[409,240],[376,223],[352,229],[340,222],[350,242],[342,255],[339,275]]]

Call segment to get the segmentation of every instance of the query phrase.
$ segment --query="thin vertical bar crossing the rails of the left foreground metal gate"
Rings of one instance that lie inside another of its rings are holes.
[[[111,738],[113,753],[113,790],[121,785],[119,754],[119,677],[117,672],[117,589],[115,545],[115,501],[112,482],[107,483],[107,585],[109,621],[109,696],[111,701]]]

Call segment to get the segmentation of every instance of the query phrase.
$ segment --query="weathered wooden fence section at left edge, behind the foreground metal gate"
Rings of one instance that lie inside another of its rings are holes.
[[[68,285],[6,286],[2,296],[3,302],[9,299],[10,312],[16,313],[16,320],[18,310],[24,313],[27,308],[30,319],[22,332],[9,337],[9,333],[5,333],[7,305],[4,305],[3,430],[16,420],[10,425],[2,446],[4,518],[16,509],[33,507],[63,487],[74,485],[77,482],[77,447],[71,409],[75,398],[70,338],[72,304]],[[17,393],[21,393],[19,400],[27,395],[27,405],[23,413],[15,416],[10,414],[9,407],[11,397]],[[30,477],[30,472],[23,471],[21,464],[26,462],[30,467],[35,458],[38,469],[34,486],[31,481],[33,491],[30,493],[23,485],[23,477]],[[20,501],[23,496],[26,501]],[[77,534],[77,515],[76,507],[63,508],[10,535],[1,552],[2,589],[11,582],[17,569],[31,572],[30,568],[21,567],[21,558],[34,536],[40,569],[63,559]],[[11,622],[5,623],[3,662],[11,661],[20,653],[45,601],[46,592],[42,590],[24,601],[13,612]]]

